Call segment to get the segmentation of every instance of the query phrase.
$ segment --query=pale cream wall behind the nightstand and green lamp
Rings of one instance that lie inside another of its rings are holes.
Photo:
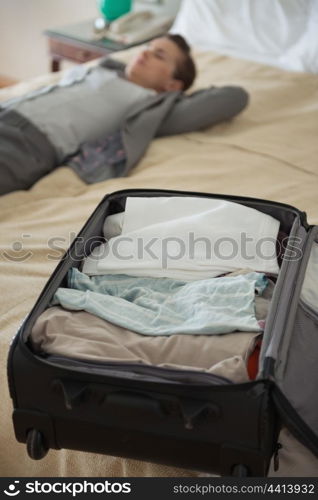
[[[181,0],[136,2],[135,8],[175,13]],[[0,0],[0,75],[22,80],[49,71],[43,31],[94,19],[95,0]]]

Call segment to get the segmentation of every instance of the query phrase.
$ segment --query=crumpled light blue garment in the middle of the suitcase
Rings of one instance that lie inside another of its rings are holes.
[[[179,281],[126,275],[89,277],[77,269],[68,286],[59,288],[53,304],[84,310],[144,335],[220,334],[260,331],[255,291],[268,280],[262,273]]]

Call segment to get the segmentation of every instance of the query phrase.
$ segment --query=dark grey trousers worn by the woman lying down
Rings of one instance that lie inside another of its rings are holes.
[[[0,110],[0,194],[28,189],[54,167],[45,135],[16,111]]]

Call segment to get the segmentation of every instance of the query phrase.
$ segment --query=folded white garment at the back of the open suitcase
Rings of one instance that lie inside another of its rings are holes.
[[[192,196],[128,197],[124,216],[117,214],[115,232],[108,234],[116,234],[121,225],[121,234],[85,259],[84,273],[197,280],[246,267],[279,272],[279,221],[239,203]]]

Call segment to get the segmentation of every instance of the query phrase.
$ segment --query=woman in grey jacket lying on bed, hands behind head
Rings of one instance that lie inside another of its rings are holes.
[[[0,111],[0,194],[27,189],[63,163],[88,183],[126,175],[154,137],[214,125],[246,106],[240,87],[184,95],[194,78],[190,47],[169,34],[127,66],[79,66],[55,86],[8,101]]]

